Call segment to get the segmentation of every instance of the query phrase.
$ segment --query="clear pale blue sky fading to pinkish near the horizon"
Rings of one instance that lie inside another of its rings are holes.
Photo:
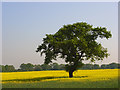
[[[107,27],[109,40],[99,42],[111,54],[102,63],[118,61],[117,2],[4,2],[2,5],[3,64],[42,64],[44,57],[35,52],[45,34],[54,34],[64,24],[87,22]],[[64,63],[63,60],[58,61]]]

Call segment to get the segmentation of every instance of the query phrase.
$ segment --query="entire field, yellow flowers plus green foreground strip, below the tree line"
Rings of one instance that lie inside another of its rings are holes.
[[[118,88],[118,69],[2,73],[3,88]]]

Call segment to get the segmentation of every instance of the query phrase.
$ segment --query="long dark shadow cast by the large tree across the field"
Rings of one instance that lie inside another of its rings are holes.
[[[73,78],[85,78],[88,76],[74,76]],[[30,82],[30,81],[42,81],[46,79],[56,79],[56,78],[69,78],[67,76],[61,76],[61,77],[37,77],[37,78],[29,78],[29,79],[11,79],[11,80],[2,80],[2,82],[8,82],[8,81],[20,81],[20,82]]]

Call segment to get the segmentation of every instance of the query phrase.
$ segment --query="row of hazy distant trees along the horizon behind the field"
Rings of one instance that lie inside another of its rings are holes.
[[[21,64],[19,69],[15,69],[13,65],[0,65],[0,72],[21,72],[21,71],[43,71],[43,70],[65,70],[65,64],[42,64],[42,65],[33,65],[31,63]],[[110,64],[102,64],[101,66],[98,64],[84,64],[82,70],[90,70],[90,69],[120,69],[120,64],[110,63]]]

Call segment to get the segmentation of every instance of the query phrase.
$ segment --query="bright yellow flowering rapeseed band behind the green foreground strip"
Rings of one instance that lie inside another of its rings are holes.
[[[29,72],[4,72],[2,83],[8,82],[39,82],[58,80],[65,81],[100,81],[118,78],[119,69],[77,70],[74,77],[69,78],[68,72],[64,70],[54,71],[29,71]]]

